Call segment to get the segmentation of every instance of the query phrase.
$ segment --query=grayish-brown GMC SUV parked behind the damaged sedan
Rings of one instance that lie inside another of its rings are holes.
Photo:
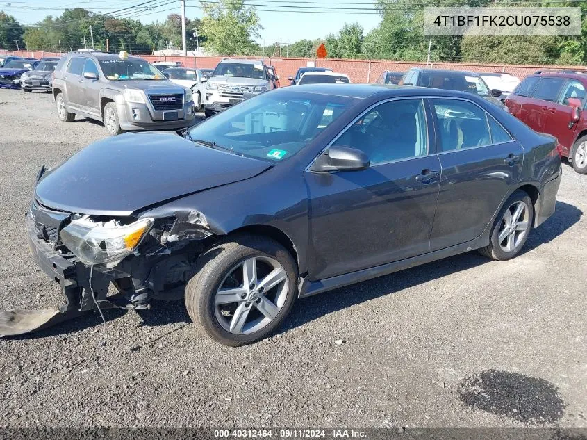
[[[53,97],[63,122],[76,115],[126,130],[176,130],[194,122],[192,91],[169,81],[142,58],[71,52],[59,60]]]

